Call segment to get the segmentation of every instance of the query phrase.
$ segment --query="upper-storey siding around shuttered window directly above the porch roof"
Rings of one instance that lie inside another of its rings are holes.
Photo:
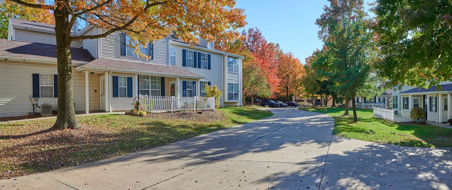
[[[100,57],[117,59],[123,61],[144,62],[159,65],[168,65],[169,48],[168,39],[163,38],[154,42],[154,59],[147,60],[139,57],[129,57],[121,55],[121,38],[119,33],[113,33],[106,38],[101,38]]]

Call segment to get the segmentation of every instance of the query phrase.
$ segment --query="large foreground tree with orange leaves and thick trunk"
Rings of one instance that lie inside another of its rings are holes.
[[[198,43],[198,36],[208,41],[216,38],[235,38],[235,29],[246,25],[244,9],[234,8],[235,0],[55,0],[14,3],[51,10],[55,17],[58,70],[58,114],[51,129],[78,129],[72,92],[71,42],[104,38],[115,32],[130,36],[139,54],[140,44],[175,33],[183,41]],[[71,16],[71,17],[70,17]],[[71,35],[77,19],[98,28],[95,35]],[[150,58],[150,57],[146,57]]]

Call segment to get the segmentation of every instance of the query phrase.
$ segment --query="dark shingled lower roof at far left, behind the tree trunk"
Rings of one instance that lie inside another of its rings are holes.
[[[45,60],[56,62],[56,45],[44,43],[30,43],[15,40],[0,39],[0,57],[22,58],[23,61]],[[94,60],[94,57],[86,49],[71,47],[73,63],[84,64]]]

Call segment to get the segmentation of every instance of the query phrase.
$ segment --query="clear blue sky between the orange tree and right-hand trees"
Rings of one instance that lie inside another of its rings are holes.
[[[372,0],[364,0],[364,4]],[[315,48],[321,48],[315,19],[323,13],[326,0],[237,0],[245,9],[248,25],[257,27],[268,42],[279,43],[284,52],[292,52],[304,63]]]

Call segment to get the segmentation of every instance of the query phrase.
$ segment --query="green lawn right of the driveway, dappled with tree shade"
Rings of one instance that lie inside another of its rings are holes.
[[[328,114],[334,117],[334,131],[347,138],[364,141],[395,144],[407,147],[452,147],[452,128],[433,125],[398,124],[374,118],[372,109],[358,109],[358,123],[353,116],[344,116],[343,108],[300,108]],[[349,110],[353,114],[352,109]],[[369,130],[375,133],[367,134]],[[447,138],[449,140],[437,140]]]

